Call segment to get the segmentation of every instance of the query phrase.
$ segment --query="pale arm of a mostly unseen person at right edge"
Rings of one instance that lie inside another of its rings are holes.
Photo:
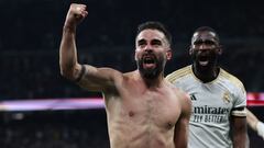
[[[246,122],[264,139],[264,124],[246,109]]]

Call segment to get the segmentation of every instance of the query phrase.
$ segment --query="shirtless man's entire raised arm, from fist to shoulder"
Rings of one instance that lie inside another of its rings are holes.
[[[59,47],[61,73],[89,90],[103,91],[113,84],[114,76],[121,73],[110,68],[96,68],[78,64],[75,41],[76,27],[87,14],[88,11],[85,4],[70,4]]]

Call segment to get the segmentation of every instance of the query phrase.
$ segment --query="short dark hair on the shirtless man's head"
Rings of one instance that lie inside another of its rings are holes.
[[[135,37],[138,37],[138,35],[144,31],[144,30],[157,30],[160,32],[162,32],[166,39],[168,41],[169,46],[172,46],[172,34],[168,32],[168,30],[166,29],[166,26],[164,24],[162,24],[161,22],[156,22],[156,21],[147,21],[145,23],[142,23],[138,26],[138,32]]]

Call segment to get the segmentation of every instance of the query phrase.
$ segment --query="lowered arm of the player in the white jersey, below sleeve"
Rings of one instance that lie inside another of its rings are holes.
[[[237,113],[231,115],[233,148],[248,148],[249,137],[244,107],[235,109],[233,112]]]

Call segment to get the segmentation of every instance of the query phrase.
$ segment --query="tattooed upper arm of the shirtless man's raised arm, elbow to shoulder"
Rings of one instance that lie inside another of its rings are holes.
[[[79,70],[77,83],[90,91],[106,91],[114,88],[116,81],[122,78],[122,73],[111,68],[96,68],[90,65],[82,65]]]

